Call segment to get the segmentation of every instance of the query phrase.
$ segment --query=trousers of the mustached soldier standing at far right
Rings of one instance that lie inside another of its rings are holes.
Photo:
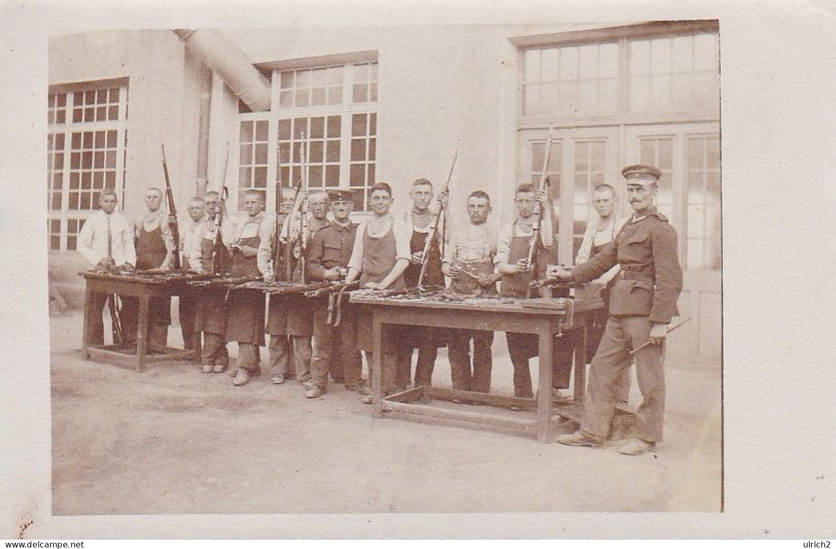
[[[665,414],[665,349],[648,345],[630,357],[630,349],[650,338],[650,318],[611,317],[604,338],[589,369],[589,385],[584,399],[581,429],[593,435],[607,436],[619,398],[619,378],[635,359],[636,377],[642,402],[635,413],[636,436],[642,440],[662,440]]]

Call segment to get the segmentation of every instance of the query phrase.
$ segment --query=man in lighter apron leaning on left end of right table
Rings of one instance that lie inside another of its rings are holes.
[[[403,290],[406,288],[404,271],[410,264],[410,237],[402,220],[390,214],[392,188],[388,183],[375,183],[370,188],[369,203],[372,217],[357,228],[354,250],[349,260],[349,274],[345,282],[354,282],[359,277],[360,287],[370,290]],[[381,372],[381,391],[392,394],[395,390],[395,368],[397,345],[400,342],[397,328],[387,328],[384,341],[384,364]],[[372,364],[371,314],[359,310],[357,314],[357,346],[366,351],[371,378]],[[372,399],[366,396],[365,404]]]

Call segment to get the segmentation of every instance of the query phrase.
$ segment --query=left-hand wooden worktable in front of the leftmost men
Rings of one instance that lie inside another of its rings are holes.
[[[142,372],[145,363],[164,360],[194,360],[200,358],[200,347],[194,350],[159,347],[148,342],[148,302],[151,297],[172,297],[192,292],[186,280],[170,278],[162,280],[160,277],[141,277],[104,274],[99,272],[82,272],[86,281],[84,290],[84,333],[82,335],[81,350],[85,360],[94,359],[108,363],[128,364],[137,373]],[[92,296],[94,293],[137,297],[139,314],[136,328],[136,348],[126,348],[117,345],[94,344],[90,338],[90,318],[94,314],[101,314],[93,310]],[[196,342],[198,338],[195,338]]]

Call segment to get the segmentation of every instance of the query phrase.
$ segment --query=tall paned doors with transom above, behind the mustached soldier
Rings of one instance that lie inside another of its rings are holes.
[[[630,214],[620,170],[640,163],[662,171],[656,205],[679,232],[683,265],[719,269],[716,23],[645,23],[512,42],[522,63],[518,175],[539,180],[553,126],[560,260],[571,262],[578,251],[594,215],[594,186],[614,186],[619,215]]]

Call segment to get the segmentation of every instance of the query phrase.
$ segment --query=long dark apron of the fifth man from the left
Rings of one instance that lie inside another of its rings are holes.
[[[258,226],[260,221],[247,222],[238,239],[240,246],[258,247]],[[252,230],[254,226],[255,231]],[[249,229],[249,230],[247,230]],[[252,232],[255,232],[252,235]],[[243,252],[232,252],[232,277],[260,276],[256,256],[244,257]],[[238,343],[264,344],[264,294],[256,290],[233,290],[227,300],[229,320],[227,322],[227,341]]]

